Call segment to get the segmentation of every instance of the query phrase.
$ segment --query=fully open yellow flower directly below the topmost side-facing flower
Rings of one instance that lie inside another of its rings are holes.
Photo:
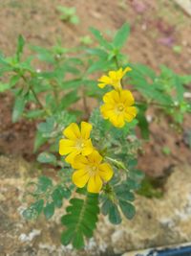
[[[131,122],[137,115],[137,108],[134,105],[134,97],[129,90],[111,91],[103,96],[104,105],[100,106],[104,119],[117,128],[122,128],[125,121]]]

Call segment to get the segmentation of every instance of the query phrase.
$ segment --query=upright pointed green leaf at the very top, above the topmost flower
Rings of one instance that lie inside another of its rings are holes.
[[[125,23],[118,31],[117,35],[115,35],[113,44],[115,48],[120,49],[127,40],[127,37],[130,33],[130,27],[127,23]]]

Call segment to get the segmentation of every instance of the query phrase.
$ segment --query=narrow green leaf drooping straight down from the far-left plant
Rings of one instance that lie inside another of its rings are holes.
[[[19,120],[21,115],[23,114],[24,108],[26,105],[26,98],[25,96],[17,96],[14,106],[13,106],[13,111],[12,111],[12,122],[15,123]]]

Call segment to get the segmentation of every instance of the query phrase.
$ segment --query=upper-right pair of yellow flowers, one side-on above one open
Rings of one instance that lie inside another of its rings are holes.
[[[117,71],[110,71],[108,76],[102,76],[98,81],[98,86],[104,88],[111,85],[115,88],[103,96],[104,105],[100,106],[100,111],[104,119],[108,119],[116,128],[122,128],[125,122],[131,122],[137,115],[137,108],[134,106],[135,100],[129,90],[123,90],[121,80],[124,75],[131,71],[130,67]]]

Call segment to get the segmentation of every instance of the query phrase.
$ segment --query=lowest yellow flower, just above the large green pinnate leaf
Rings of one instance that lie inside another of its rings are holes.
[[[72,166],[76,171],[73,174],[73,182],[78,188],[83,188],[88,183],[88,192],[98,193],[103,182],[112,178],[112,167],[108,163],[101,163],[102,159],[97,151],[88,156],[77,155],[74,158]]]

